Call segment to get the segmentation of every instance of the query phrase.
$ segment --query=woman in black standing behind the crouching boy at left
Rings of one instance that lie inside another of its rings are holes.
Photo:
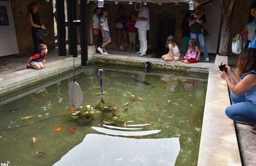
[[[34,53],[38,53],[38,45],[43,43],[43,40],[39,39],[36,36],[36,33],[38,32],[39,29],[45,29],[45,26],[39,17],[38,11],[39,11],[38,3],[36,3],[35,1],[32,1],[30,4],[28,4],[27,16],[29,20],[29,25],[31,26],[32,38],[34,43]]]

